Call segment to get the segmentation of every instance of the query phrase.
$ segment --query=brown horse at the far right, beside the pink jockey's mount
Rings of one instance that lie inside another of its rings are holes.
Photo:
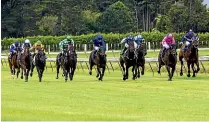
[[[182,48],[179,52],[179,60],[181,62],[181,71],[180,75],[183,75],[182,67],[183,67],[183,58],[187,62],[187,68],[188,68],[188,74],[187,77],[190,77],[190,65],[192,66],[193,70],[193,76],[195,77],[195,73],[198,73],[200,70],[199,67],[199,60],[198,60],[198,45],[199,45],[199,38],[197,36],[194,36],[192,38],[191,45],[188,47],[187,51],[184,53],[184,45],[182,45]],[[194,67],[194,64],[197,66],[197,70]]]

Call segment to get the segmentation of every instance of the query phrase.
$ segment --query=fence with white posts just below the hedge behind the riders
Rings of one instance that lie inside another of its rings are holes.
[[[106,50],[121,50],[124,47],[124,44],[112,43],[106,44]],[[160,49],[160,42],[153,41],[153,42],[146,42],[146,49],[148,50],[155,50]],[[200,48],[209,48],[209,44],[207,41],[200,41],[199,43]],[[59,51],[59,44],[54,45],[45,45],[47,52],[57,52]],[[1,50],[8,50],[9,46],[1,46]],[[77,51],[90,51],[93,50],[93,44],[75,44],[75,49]]]

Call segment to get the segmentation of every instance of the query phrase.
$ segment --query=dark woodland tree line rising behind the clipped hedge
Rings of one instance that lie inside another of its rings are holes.
[[[203,0],[2,0],[2,37],[209,32]]]

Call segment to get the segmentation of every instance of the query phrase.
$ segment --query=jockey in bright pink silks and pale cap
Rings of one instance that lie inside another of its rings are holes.
[[[175,44],[175,39],[174,39],[173,34],[170,33],[170,34],[166,35],[163,38],[161,44],[163,45],[163,50],[162,50],[162,53],[161,53],[161,56],[163,57],[164,53],[165,53],[165,50],[170,48],[171,44]]]

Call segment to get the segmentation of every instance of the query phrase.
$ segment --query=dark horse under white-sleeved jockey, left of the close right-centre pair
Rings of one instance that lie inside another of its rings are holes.
[[[125,64],[125,66],[124,66]],[[128,69],[133,66],[133,80],[136,79],[137,55],[134,49],[134,41],[129,42],[129,47],[125,51],[124,56],[120,56],[120,65],[123,70],[123,80],[128,79]]]

